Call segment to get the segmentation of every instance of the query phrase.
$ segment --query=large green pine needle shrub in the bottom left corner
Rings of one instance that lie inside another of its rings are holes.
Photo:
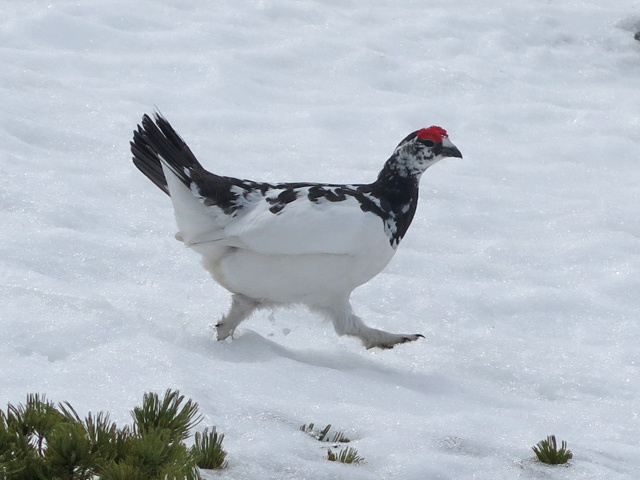
[[[29,395],[24,405],[0,410],[0,480],[199,480],[203,456],[221,458],[223,435],[196,434],[201,450],[183,441],[201,420],[198,405],[179,392],[147,393],[132,412],[132,427],[104,413],[81,418],[69,403]],[[206,455],[205,455],[206,454]]]

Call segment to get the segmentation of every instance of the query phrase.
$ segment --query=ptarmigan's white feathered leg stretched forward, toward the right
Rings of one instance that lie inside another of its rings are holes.
[[[357,337],[367,349],[390,349],[400,343],[412,342],[418,338],[424,338],[424,336],[419,333],[389,333],[384,330],[368,327],[362,319],[353,312],[351,304],[348,301],[331,307],[314,307],[314,310],[319,311],[333,322],[333,328],[338,335]]]

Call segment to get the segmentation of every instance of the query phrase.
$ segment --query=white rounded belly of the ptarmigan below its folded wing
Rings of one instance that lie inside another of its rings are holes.
[[[382,255],[265,255],[228,248],[203,264],[227,290],[278,303],[330,305],[375,277],[395,250]]]

